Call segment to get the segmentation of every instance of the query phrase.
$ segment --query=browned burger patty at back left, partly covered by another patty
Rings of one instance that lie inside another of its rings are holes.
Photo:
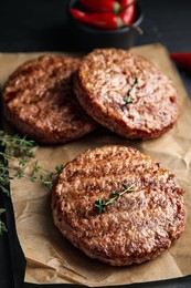
[[[19,66],[3,91],[9,122],[42,143],[64,143],[93,131],[97,124],[72,90],[78,64],[78,59],[50,54]]]

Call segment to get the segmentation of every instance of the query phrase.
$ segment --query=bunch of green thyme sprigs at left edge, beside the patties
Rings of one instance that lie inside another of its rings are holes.
[[[56,165],[55,171],[47,172],[39,164],[38,161],[32,162],[35,158],[34,146],[35,142],[20,137],[19,135],[9,135],[3,131],[0,131],[0,191],[10,196],[9,184],[13,178],[25,178],[33,183],[40,183],[50,189],[53,186],[53,182],[56,175],[59,175],[63,165]],[[9,161],[14,161],[14,165],[9,167]],[[10,176],[11,175],[11,176]],[[0,235],[7,232],[4,223],[1,220],[1,214],[6,209],[0,208]]]

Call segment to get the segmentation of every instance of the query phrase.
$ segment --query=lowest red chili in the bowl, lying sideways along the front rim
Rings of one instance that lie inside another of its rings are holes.
[[[71,9],[71,13],[75,19],[102,29],[116,29],[124,25],[120,17],[113,13],[88,14],[74,8]]]

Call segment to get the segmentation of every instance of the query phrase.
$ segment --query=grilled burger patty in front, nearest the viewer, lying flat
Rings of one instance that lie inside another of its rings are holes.
[[[124,185],[131,187],[124,192]],[[123,195],[97,213],[95,200]],[[131,147],[103,146],[66,164],[52,195],[54,223],[87,256],[115,266],[160,255],[184,228],[173,174]]]

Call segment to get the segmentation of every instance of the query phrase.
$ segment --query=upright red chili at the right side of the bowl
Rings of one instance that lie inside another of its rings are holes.
[[[120,7],[125,8],[120,13],[120,18],[125,24],[134,23],[135,16],[136,16],[136,6],[134,0],[120,0]]]

